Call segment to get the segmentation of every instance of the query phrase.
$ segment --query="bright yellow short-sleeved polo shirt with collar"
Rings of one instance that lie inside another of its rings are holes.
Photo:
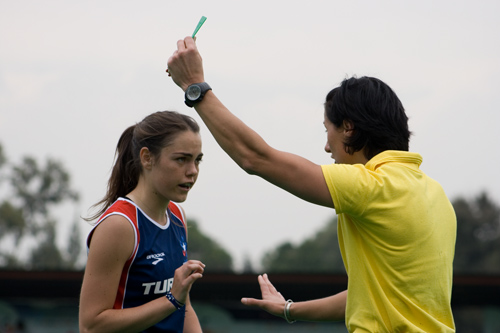
[[[416,153],[323,165],[349,276],[349,332],[454,332],[456,217]]]

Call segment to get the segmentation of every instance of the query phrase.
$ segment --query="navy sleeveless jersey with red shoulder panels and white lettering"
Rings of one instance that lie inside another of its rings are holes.
[[[142,305],[172,288],[174,272],[187,261],[185,218],[180,207],[170,201],[167,223],[160,225],[135,203],[119,198],[98,219],[87,239],[87,248],[95,228],[111,215],[125,217],[134,227],[134,251],[125,263],[113,308]],[[185,307],[143,332],[182,332]]]

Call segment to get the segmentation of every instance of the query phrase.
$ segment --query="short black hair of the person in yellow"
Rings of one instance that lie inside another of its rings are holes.
[[[371,159],[385,150],[408,151],[411,132],[403,104],[384,82],[372,77],[352,77],[326,96],[325,114],[341,128],[344,121],[353,125],[346,152],[363,150]]]

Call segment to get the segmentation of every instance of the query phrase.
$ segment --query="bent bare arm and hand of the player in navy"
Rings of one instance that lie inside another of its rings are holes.
[[[113,309],[123,266],[134,247],[132,228],[125,218],[113,215],[94,230],[80,296],[80,332],[138,332],[176,310],[166,297],[134,308]],[[203,266],[189,261],[176,270],[171,291],[181,302],[202,276]]]

